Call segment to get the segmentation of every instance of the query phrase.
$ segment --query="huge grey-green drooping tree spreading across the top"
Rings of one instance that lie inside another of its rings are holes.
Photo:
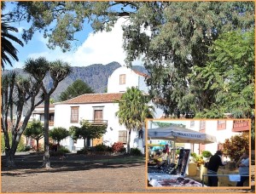
[[[214,90],[203,89],[207,78],[195,82],[189,74],[197,76],[194,66],[207,66],[209,47],[219,35],[254,28],[253,2],[20,2],[14,12],[26,14],[10,20],[32,21],[23,36],[26,41],[44,30],[49,48],[64,51],[84,21],[94,31],[110,31],[119,17],[129,18],[129,25],[123,26],[126,64],[143,56],[149,94],[172,117],[190,117],[212,106]]]

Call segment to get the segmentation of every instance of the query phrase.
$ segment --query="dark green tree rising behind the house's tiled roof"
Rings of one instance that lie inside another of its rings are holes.
[[[67,87],[60,95],[60,100],[65,101],[77,97],[82,94],[93,94],[94,91],[84,83],[82,80],[78,79],[74,81],[70,86]]]

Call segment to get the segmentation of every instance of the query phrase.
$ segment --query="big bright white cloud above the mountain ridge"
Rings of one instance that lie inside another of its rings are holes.
[[[31,53],[28,57],[37,58],[44,56],[48,60],[64,60],[70,63],[71,66],[90,66],[91,64],[108,64],[112,61],[119,62],[120,65],[125,65],[125,51],[123,45],[123,31],[121,26],[125,20],[119,19],[112,31],[102,31],[90,33],[87,39],[73,53],[62,53],[60,48],[49,50],[46,48],[46,40],[39,37],[39,41],[44,43],[47,51],[42,53]],[[141,65],[141,60],[136,60],[134,65]]]

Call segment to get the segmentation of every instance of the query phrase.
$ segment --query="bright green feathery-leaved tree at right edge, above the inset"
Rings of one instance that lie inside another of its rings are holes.
[[[215,97],[209,109],[199,112],[199,116],[223,117],[227,112],[235,118],[253,116],[254,43],[254,31],[224,33],[212,44],[207,65],[195,66],[198,76],[193,79],[206,79],[203,90],[212,91]]]

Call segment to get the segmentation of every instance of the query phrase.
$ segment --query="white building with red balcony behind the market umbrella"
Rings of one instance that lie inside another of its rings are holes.
[[[216,137],[216,142],[211,144],[190,144],[183,142],[182,145],[185,149],[190,149],[191,152],[195,152],[197,155],[202,151],[211,151],[212,155],[218,151],[223,150],[223,144],[226,139],[230,139],[231,136],[241,134],[241,132],[249,132],[249,120],[241,119],[207,119],[207,120],[171,120],[171,119],[155,119],[148,122],[148,128],[159,128],[155,125],[155,122],[161,123],[173,123],[182,124],[184,128],[189,128],[196,132],[210,134]],[[148,140],[148,144],[159,144],[161,140]],[[173,144],[172,144],[173,145]],[[180,145],[176,145],[179,147]]]

